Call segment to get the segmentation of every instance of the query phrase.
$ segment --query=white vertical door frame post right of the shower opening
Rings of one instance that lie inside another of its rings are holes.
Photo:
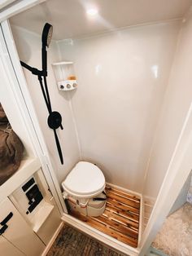
[[[177,145],[172,154],[166,173],[166,179],[162,183],[160,192],[155,202],[149,222],[142,235],[142,241],[138,245],[142,249],[139,255],[146,255],[146,250],[155,239],[157,232],[167,218],[172,204],[176,201],[181,188],[190,174],[192,166],[192,104],[185,117]]]

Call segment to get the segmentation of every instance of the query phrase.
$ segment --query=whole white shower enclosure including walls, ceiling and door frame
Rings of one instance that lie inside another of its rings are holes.
[[[0,13],[1,65],[17,81],[3,87],[0,101],[10,108],[12,93],[24,126],[33,130],[30,136],[63,221],[130,255],[146,253],[192,164],[190,1],[172,0],[166,9],[166,1],[159,2],[149,1],[150,8],[139,11],[144,1],[96,1],[96,17],[86,16],[85,1],[21,1]],[[53,25],[47,82],[52,108],[63,119],[58,130],[63,166],[46,123],[41,88],[20,65],[22,60],[40,66],[46,22]],[[60,90],[55,67],[60,77],[76,80],[75,90]],[[68,214],[60,188],[77,161],[95,163],[108,185],[140,198],[137,248]]]

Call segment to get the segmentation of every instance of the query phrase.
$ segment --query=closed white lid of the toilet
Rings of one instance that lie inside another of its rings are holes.
[[[97,195],[105,188],[103,172],[94,164],[80,161],[62,183],[63,189],[72,196],[88,197]]]

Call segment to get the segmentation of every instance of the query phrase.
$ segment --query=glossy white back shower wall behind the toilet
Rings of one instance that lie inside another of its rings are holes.
[[[58,42],[60,60],[75,63],[78,89],[69,94],[82,159],[135,192],[142,192],[179,28],[177,20]]]

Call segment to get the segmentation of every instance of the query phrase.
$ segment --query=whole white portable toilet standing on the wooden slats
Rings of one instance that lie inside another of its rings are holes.
[[[103,214],[107,200],[105,185],[105,177],[98,166],[79,161],[62,183],[68,210],[94,217]]]

